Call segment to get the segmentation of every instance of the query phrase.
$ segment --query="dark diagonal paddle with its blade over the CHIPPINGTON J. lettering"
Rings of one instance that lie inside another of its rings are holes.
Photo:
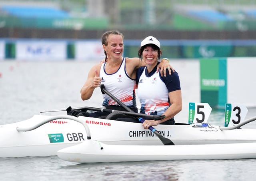
[[[133,112],[134,113],[134,111],[132,111],[132,109],[130,109],[129,107],[127,107],[124,103],[122,103],[119,99],[117,99],[114,95],[112,95],[109,91],[107,91],[106,89],[105,89],[105,86],[104,86],[104,84],[101,84],[100,85],[100,89],[101,89],[101,92],[102,92],[102,94],[104,94],[104,93],[106,93],[109,97],[111,97],[114,101],[116,101],[119,105],[121,105],[122,107],[124,107],[126,110],[128,110],[129,112]],[[143,115],[144,116],[144,115]],[[145,116],[144,116],[145,117]],[[145,120],[143,119],[143,118],[141,118],[141,117],[138,117],[139,118],[139,121],[141,122],[141,123],[143,123]],[[168,139],[168,138],[166,138],[166,137],[163,137],[154,127],[152,127],[152,126],[150,126],[148,129],[150,129],[153,133],[155,133],[156,134],[156,136],[162,141],[162,143],[164,144],[164,145],[174,145],[174,143],[170,140],[170,139]]]

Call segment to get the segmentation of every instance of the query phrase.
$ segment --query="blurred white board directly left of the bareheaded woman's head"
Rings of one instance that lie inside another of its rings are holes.
[[[78,60],[99,60],[101,61],[104,56],[104,51],[100,41],[84,41],[76,42],[75,58]]]

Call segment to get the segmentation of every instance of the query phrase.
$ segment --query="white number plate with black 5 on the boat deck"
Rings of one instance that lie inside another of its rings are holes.
[[[206,123],[212,111],[212,107],[208,103],[190,102],[188,107],[189,124]]]

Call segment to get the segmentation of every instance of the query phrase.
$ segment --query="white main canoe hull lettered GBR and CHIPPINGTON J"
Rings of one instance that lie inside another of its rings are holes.
[[[32,131],[17,131],[52,116],[34,115],[32,118],[0,125],[0,157],[51,156],[57,151],[87,140],[84,127],[70,119],[45,123]],[[109,145],[162,145],[160,139],[141,123],[129,123],[79,117],[87,123],[91,137]],[[155,128],[175,145],[226,144],[256,142],[255,129],[220,130],[219,126],[158,125]]]

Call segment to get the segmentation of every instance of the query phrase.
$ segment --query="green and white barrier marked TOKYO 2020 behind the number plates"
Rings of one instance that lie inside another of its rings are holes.
[[[211,107],[226,103],[256,106],[255,57],[200,59],[200,102]]]

